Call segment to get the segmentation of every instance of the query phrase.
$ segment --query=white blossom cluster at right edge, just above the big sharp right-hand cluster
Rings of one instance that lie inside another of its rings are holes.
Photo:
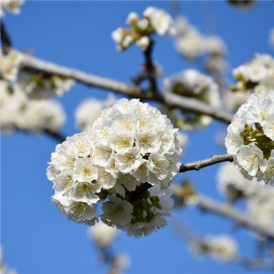
[[[236,84],[232,90],[238,92],[260,92],[264,89],[274,89],[274,58],[267,54],[256,54],[245,64],[233,70]]]

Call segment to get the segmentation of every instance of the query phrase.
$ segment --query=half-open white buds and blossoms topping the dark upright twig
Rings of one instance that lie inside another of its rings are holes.
[[[130,29],[119,27],[112,32],[112,39],[117,44],[118,50],[127,49],[136,42],[136,45],[145,51],[150,43],[151,34],[155,32],[160,36],[175,34],[173,19],[164,10],[149,7],[143,13],[143,18],[139,18],[136,12],[131,12],[127,16],[127,25]]]

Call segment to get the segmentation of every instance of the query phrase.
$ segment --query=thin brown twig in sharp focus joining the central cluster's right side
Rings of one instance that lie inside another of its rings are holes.
[[[186,171],[199,171],[199,169],[203,169],[206,166],[211,166],[212,164],[218,164],[220,162],[233,162],[233,156],[229,154],[221,154],[221,155],[212,155],[210,158],[205,160],[199,160],[195,162],[190,162],[187,164],[182,164],[179,169],[179,172]]]

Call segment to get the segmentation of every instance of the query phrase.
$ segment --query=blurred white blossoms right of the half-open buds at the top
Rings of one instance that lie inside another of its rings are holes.
[[[225,73],[227,47],[219,36],[205,36],[180,15],[175,20],[177,52],[190,60],[206,57],[205,68],[211,73]]]

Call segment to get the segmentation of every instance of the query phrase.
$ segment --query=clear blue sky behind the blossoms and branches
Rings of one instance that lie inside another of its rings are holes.
[[[247,12],[232,8],[225,1],[184,1],[182,10],[201,32],[223,37],[232,67],[250,60],[254,53],[271,53],[268,34],[274,27],[273,1],[260,1]],[[7,14],[3,21],[14,47],[32,50],[34,55],[65,66],[129,82],[138,73],[142,53],[132,47],[121,53],[110,38],[112,30],[125,26],[129,12],[141,14],[149,5],[170,11],[167,1],[27,1],[19,16]],[[214,27],[208,22],[214,19]],[[179,58],[169,38],[157,38],[155,60],[168,76],[195,64]],[[231,75],[228,75],[231,77]],[[62,133],[71,136],[74,110],[86,97],[104,98],[108,92],[77,84],[60,98],[68,120]],[[190,134],[190,145],[183,161],[225,153],[214,143],[216,132],[225,125],[214,123],[206,131]],[[206,144],[206,145],[205,145]],[[45,171],[55,140],[38,134],[1,136],[1,245],[5,262],[19,274],[104,273],[95,263],[95,248],[86,237],[87,227],[67,221],[51,203],[52,184]],[[216,191],[218,166],[179,175],[191,177],[201,193],[221,200]],[[234,232],[230,221],[196,209],[175,210],[173,216],[190,223],[202,234],[232,234],[240,251],[253,255],[254,238],[244,230]],[[151,236],[135,239],[121,234],[115,250],[129,253],[132,265],[127,273],[248,273],[235,264],[197,260],[184,242],[173,237],[171,225]],[[254,273],[262,273],[255,271]]]

